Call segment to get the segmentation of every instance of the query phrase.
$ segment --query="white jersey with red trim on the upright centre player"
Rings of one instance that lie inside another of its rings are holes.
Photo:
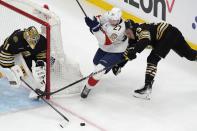
[[[101,30],[93,32],[98,40],[99,48],[103,51],[111,53],[124,52],[128,46],[128,39],[125,36],[125,23],[124,20],[113,26],[109,23],[108,12],[97,16],[101,24]]]

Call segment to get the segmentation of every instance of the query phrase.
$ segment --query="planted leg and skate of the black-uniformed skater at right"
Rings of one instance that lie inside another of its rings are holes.
[[[174,32],[173,27],[169,27],[165,32],[165,35],[155,43],[154,49],[151,51],[147,58],[147,67],[145,74],[145,85],[141,89],[134,91],[134,96],[144,99],[150,99],[152,92],[152,85],[154,82],[155,75],[157,73],[157,65],[161,58],[165,58],[174,46]]]

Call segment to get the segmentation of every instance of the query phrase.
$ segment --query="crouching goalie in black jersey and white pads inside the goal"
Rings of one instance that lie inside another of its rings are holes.
[[[15,57],[21,54],[25,60],[30,74],[33,79],[39,83],[40,87],[45,90],[46,80],[46,38],[39,34],[34,26],[24,30],[16,30],[0,47],[0,73],[1,77],[7,77],[10,85],[19,87],[21,84],[20,77],[25,75],[21,65],[16,64]],[[30,98],[35,98],[37,95],[30,93]]]

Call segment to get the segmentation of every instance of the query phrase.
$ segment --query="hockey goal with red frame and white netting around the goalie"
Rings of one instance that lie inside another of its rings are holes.
[[[59,17],[29,0],[0,0],[0,45],[14,30],[35,26],[47,38],[46,91],[52,92],[82,77],[78,64],[66,57]],[[82,85],[58,94],[79,93]],[[49,98],[49,96],[47,96]]]

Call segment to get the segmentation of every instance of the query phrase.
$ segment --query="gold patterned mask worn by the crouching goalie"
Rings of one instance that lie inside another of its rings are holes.
[[[24,39],[34,49],[40,39],[40,34],[34,26],[31,26],[24,30]]]

